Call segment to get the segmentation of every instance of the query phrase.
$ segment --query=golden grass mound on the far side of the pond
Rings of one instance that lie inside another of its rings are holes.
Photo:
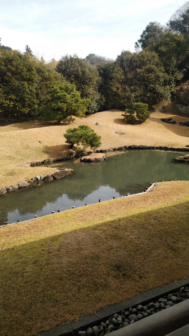
[[[177,122],[189,121],[189,118],[153,112],[141,125],[125,124],[121,111],[111,110],[77,119],[68,126],[49,126],[47,123],[30,121],[1,126],[0,141],[0,187],[17,184],[38,174],[51,174],[54,168],[30,167],[31,161],[64,157],[68,154],[65,133],[68,127],[86,124],[102,138],[101,149],[125,144],[144,144],[153,146],[173,146],[184,148],[189,144],[187,127],[166,124],[160,118],[172,117]],[[96,126],[96,123],[101,126]],[[120,135],[115,133],[125,133]]]

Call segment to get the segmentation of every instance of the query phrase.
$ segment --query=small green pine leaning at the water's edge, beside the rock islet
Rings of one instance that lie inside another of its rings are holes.
[[[64,136],[66,138],[66,143],[69,143],[70,148],[73,148],[74,144],[81,144],[84,149],[86,147],[96,149],[101,145],[101,137],[87,125],[68,128]]]

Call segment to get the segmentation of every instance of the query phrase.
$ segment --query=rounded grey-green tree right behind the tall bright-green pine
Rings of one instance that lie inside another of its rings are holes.
[[[88,62],[77,55],[66,55],[58,62],[56,71],[76,86],[81,92],[81,98],[90,99],[88,114],[99,111],[104,97],[98,91],[101,78],[96,67],[90,67]]]

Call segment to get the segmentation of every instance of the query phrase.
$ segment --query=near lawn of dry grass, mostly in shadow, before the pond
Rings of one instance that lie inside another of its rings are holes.
[[[189,275],[189,181],[0,230],[2,336],[29,336]]]

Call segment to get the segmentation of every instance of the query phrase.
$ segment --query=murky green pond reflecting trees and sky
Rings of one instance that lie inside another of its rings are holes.
[[[74,173],[1,196],[0,225],[136,194],[154,181],[189,180],[189,164],[173,160],[179,152],[128,150],[113,154],[108,153],[108,160],[102,163],[55,162],[54,167],[73,168]]]

